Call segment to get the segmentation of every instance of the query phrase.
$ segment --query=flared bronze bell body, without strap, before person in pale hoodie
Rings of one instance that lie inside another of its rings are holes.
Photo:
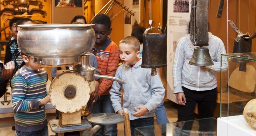
[[[194,53],[189,61],[190,65],[196,66],[211,66],[214,65],[209,53],[209,49],[205,47],[197,47],[194,49]]]

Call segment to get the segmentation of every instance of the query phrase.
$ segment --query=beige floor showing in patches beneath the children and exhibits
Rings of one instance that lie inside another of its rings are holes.
[[[166,106],[166,113],[168,116],[168,120],[170,122],[176,122],[177,121],[177,108],[176,105],[172,102],[165,102]],[[47,114],[47,120],[52,120],[55,119],[55,114]],[[155,119],[155,124],[157,124],[156,119]],[[14,118],[9,117],[9,118],[0,118],[0,136],[15,136],[15,131],[12,130],[12,126],[14,125]],[[118,136],[124,136],[124,124],[119,123],[117,124],[117,130],[118,130]],[[51,131],[51,128],[49,127],[48,124],[48,131],[49,131],[49,136],[50,135],[55,135]]]

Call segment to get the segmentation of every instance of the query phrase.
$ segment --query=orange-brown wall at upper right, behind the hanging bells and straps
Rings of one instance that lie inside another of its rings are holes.
[[[247,0],[240,0],[240,21],[239,21],[239,0],[231,0],[228,1],[228,20],[232,20],[234,24],[240,31],[244,34],[247,33],[248,26],[248,5],[249,2]],[[256,1],[250,1],[250,17],[249,17],[249,34],[253,35],[255,31],[255,7]],[[210,30],[219,38],[222,39],[227,53],[232,53],[234,38],[237,37],[237,33],[233,31],[233,29],[228,24],[228,39],[227,39],[227,3],[224,1],[224,7],[221,18],[216,18],[218,9],[218,1],[209,0],[209,24]],[[240,27],[239,27],[240,22]],[[227,43],[228,41],[228,43]],[[253,39],[252,42],[252,52],[256,52],[256,40]],[[220,73],[218,73],[218,91],[220,91]]]

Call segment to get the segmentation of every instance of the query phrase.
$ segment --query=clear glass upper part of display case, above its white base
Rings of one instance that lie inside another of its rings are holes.
[[[220,117],[243,115],[246,103],[255,97],[256,53],[222,54]]]

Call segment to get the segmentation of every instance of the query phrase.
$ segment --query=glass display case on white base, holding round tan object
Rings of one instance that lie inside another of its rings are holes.
[[[256,53],[222,54],[221,104],[218,136],[255,136],[256,129],[244,119],[248,101],[255,99]]]

